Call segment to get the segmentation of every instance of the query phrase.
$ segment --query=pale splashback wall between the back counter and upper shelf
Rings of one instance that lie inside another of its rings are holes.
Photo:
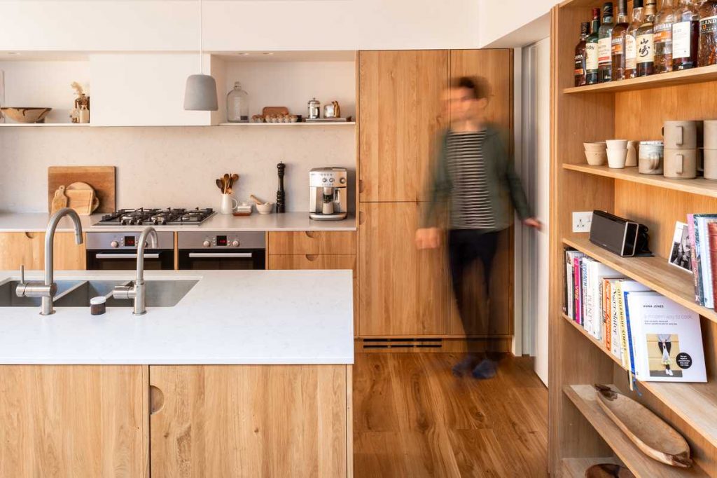
[[[0,209],[46,212],[47,167],[74,165],[117,166],[118,207],[218,208],[225,172],[239,174],[237,199],[274,202],[284,161],[288,210],[308,210],[309,169],[346,167],[354,184],[355,138],[353,126],[0,128]]]

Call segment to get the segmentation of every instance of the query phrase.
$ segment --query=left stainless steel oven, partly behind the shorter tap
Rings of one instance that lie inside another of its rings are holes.
[[[141,233],[87,233],[88,271],[130,271],[137,267],[137,241]],[[157,233],[158,248],[146,249],[144,268],[174,270],[174,233]]]

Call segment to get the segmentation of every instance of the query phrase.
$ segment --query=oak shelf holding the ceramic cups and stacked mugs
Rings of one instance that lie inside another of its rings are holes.
[[[674,189],[675,191],[689,192],[693,195],[717,197],[717,181],[710,179],[668,179],[662,175],[640,174],[637,167],[612,169],[607,166],[590,166],[589,164],[563,164],[563,169],[570,171],[595,174],[597,176],[612,177],[622,181],[637,182],[648,186]]]

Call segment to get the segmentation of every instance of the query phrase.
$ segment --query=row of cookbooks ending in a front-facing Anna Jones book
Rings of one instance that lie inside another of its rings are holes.
[[[565,272],[565,314],[637,380],[707,381],[698,314],[577,250]]]

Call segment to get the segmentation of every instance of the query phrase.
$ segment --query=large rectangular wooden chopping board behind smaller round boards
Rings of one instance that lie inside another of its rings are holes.
[[[60,186],[85,182],[95,189],[100,200],[96,212],[115,210],[115,167],[114,166],[51,166],[47,168],[47,210],[52,210],[54,192]]]

